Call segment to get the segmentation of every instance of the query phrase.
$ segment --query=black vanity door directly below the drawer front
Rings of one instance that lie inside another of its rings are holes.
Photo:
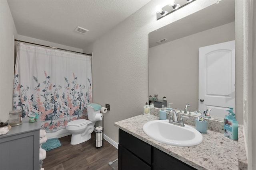
[[[151,170],[145,162],[118,145],[118,170]]]

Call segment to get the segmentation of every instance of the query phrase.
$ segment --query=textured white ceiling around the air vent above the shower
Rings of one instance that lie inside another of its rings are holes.
[[[83,49],[150,0],[8,0],[19,35]],[[74,31],[88,29],[85,34]]]

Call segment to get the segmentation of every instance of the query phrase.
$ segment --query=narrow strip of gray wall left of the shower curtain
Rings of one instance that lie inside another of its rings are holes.
[[[0,0],[0,121],[12,110],[14,36],[17,31],[6,0]]]

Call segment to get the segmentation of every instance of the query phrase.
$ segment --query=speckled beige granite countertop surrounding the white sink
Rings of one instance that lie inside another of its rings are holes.
[[[193,147],[167,145],[151,139],[142,130],[146,122],[158,119],[159,117],[154,115],[138,115],[115,122],[114,125],[196,169],[238,169],[238,141],[224,137],[223,133],[207,130],[207,133],[202,133],[203,141],[199,145]]]

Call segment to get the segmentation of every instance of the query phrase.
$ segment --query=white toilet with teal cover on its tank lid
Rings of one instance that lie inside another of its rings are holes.
[[[87,104],[88,119],[76,119],[68,122],[66,129],[72,134],[71,145],[77,145],[91,139],[91,133],[94,130],[96,121],[102,120],[100,113],[101,106],[99,104]]]

